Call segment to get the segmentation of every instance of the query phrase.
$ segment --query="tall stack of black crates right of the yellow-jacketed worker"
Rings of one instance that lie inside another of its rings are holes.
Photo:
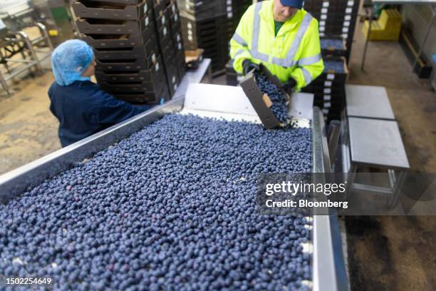
[[[304,9],[318,19],[321,54],[326,69],[302,91],[315,95],[314,106],[322,108],[326,121],[341,118],[341,111],[346,106],[347,63],[358,8],[357,0],[313,0],[304,4]],[[332,63],[336,63],[336,69],[331,68]]]

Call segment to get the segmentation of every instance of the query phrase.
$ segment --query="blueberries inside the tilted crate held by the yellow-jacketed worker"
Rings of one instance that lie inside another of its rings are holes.
[[[280,89],[277,88],[274,83],[271,83],[263,73],[256,73],[254,78],[262,93],[266,93],[271,99],[273,103],[271,111],[274,113],[274,116],[276,116],[281,123],[286,124],[287,121],[289,121],[289,111],[286,106],[286,97],[284,94],[281,93]]]

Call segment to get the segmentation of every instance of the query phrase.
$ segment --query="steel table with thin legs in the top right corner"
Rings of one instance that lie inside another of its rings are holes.
[[[373,0],[372,1],[373,4],[391,4],[391,5],[405,5],[405,4],[427,4],[431,7],[432,9],[432,19],[430,20],[430,24],[428,24],[427,26],[427,32],[425,34],[425,38],[422,41],[422,44],[420,46],[420,49],[417,53],[415,62],[413,63],[412,66],[412,71],[415,68],[416,63],[419,61],[421,53],[422,53],[422,49],[424,48],[425,44],[427,43],[427,39],[428,39],[428,35],[430,34],[430,31],[432,29],[432,25],[435,22],[436,19],[436,0]],[[363,56],[362,56],[362,66],[361,69],[362,71],[365,71],[365,59],[366,59],[366,51],[368,50],[368,42],[369,42],[369,38],[370,38],[370,32],[371,32],[371,26],[373,24],[373,18],[374,18],[374,13],[373,11],[371,11],[371,15],[370,15],[370,24],[368,26],[368,34],[365,40],[365,48],[363,49]]]

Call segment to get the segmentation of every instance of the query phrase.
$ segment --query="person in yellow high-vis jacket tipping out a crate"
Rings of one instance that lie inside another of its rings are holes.
[[[318,77],[324,69],[318,21],[302,6],[303,0],[251,5],[230,41],[234,69],[246,74],[263,63],[287,91],[300,91]]]

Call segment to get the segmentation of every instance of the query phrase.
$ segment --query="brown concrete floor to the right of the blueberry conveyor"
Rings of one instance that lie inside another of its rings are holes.
[[[365,72],[360,26],[348,83],[385,86],[400,126],[410,168],[436,173],[436,93],[412,71],[400,45],[370,43]],[[347,217],[351,289],[435,290],[436,218]]]

